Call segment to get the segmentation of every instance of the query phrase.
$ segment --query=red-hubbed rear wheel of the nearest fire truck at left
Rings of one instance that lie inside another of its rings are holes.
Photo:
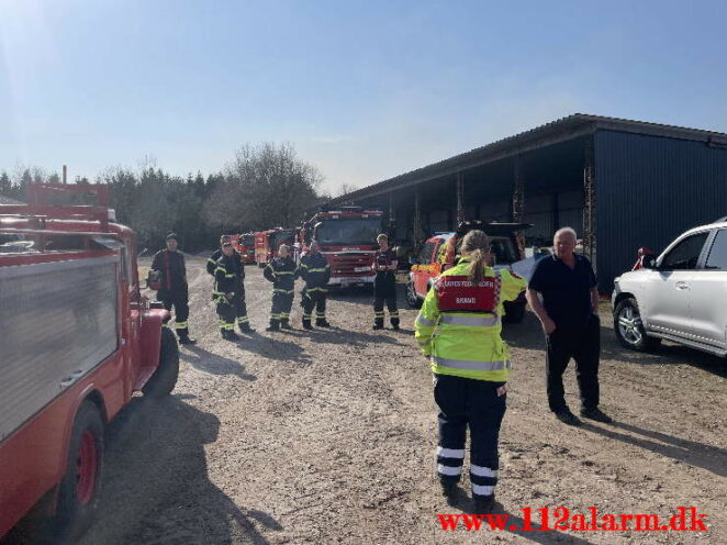
[[[85,401],[74,422],[66,475],[58,486],[56,535],[75,543],[93,520],[103,468],[103,421],[98,408]]]

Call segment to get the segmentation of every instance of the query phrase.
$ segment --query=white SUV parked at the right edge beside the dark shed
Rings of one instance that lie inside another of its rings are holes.
[[[614,281],[618,341],[647,351],[668,338],[727,355],[727,218],[687,231],[642,263]]]

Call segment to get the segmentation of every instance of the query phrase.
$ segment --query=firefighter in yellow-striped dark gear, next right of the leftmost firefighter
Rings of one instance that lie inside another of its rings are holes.
[[[222,338],[237,338],[235,320],[237,320],[241,332],[255,332],[250,327],[247,318],[244,279],[245,269],[239,254],[232,247],[232,243],[223,243],[222,257],[217,259],[214,269],[214,288],[212,291],[212,299],[217,303]]]

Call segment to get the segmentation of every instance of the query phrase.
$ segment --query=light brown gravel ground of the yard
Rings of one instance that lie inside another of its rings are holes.
[[[544,340],[532,313],[506,325],[514,372],[501,435],[499,510],[708,516],[707,532],[443,531],[468,513],[435,480],[436,410],[416,310],[371,331],[368,291],[335,293],[329,331],[266,333],[270,285],[247,267],[257,333],[220,338],[204,260],[190,258],[191,333],[174,394],[138,398],[109,431],[98,544],[727,543],[727,364],[679,346],[644,355],[602,323],[602,408],[613,425],[568,427],[547,411]],[[572,369],[568,401],[578,409]],[[467,466],[466,461],[466,468]],[[467,471],[465,471],[467,475]],[[537,522],[537,519],[535,519]],[[536,522],[534,526],[537,527]]]

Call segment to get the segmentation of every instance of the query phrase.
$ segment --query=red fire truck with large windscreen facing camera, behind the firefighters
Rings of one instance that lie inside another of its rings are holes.
[[[361,207],[322,209],[301,229],[303,252],[315,240],[331,265],[331,285],[372,283],[376,237],[383,233],[383,212]]]

